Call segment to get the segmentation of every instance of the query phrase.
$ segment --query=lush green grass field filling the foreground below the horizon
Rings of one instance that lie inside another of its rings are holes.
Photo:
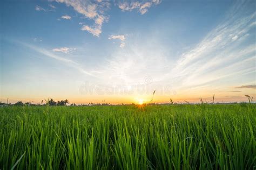
[[[255,169],[253,104],[0,108],[0,169]]]

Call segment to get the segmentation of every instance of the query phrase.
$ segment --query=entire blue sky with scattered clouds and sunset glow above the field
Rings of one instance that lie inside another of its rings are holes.
[[[3,0],[0,101],[247,101],[256,96],[255,9],[256,1]]]

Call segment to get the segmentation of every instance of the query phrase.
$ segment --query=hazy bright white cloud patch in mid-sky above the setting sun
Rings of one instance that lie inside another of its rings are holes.
[[[148,45],[152,45],[152,48],[149,48]],[[120,46],[123,47],[124,44],[121,43]],[[151,41],[144,44],[139,41],[129,44],[124,49],[117,48],[114,50],[111,58],[103,62],[98,68],[100,74],[97,75],[103,81],[130,86],[143,81],[143,77],[146,75],[152,76],[155,81],[155,77],[162,71],[159,68],[166,64],[163,51],[160,48],[156,48]],[[166,70],[163,70],[163,73],[165,72]]]

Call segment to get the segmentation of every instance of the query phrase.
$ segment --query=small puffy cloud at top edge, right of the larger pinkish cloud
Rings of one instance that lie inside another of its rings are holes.
[[[131,2],[131,3],[123,2],[123,3],[119,3],[118,7],[122,11],[132,11],[134,9],[137,9],[142,15],[144,15],[152,5],[158,5],[160,4],[160,2],[161,2],[160,0],[151,0],[144,3],[139,1]]]

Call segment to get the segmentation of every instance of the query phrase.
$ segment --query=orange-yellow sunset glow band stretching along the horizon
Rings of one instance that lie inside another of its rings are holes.
[[[250,89],[245,89],[241,92],[228,92],[229,89],[223,89],[216,92],[216,90],[177,90],[175,95],[158,95],[158,91],[154,95],[151,101],[152,95],[132,94],[132,95],[80,95],[80,94],[69,94],[69,93],[54,93],[52,95],[44,96],[43,94],[14,94],[14,95],[3,95],[0,96],[1,102],[6,102],[7,99],[11,103],[18,101],[31,102],[34,104],[45,103],[44,99],[53,98],[55,101],[68,99],[70,104],[88,104],[88,103],[107,103],[107,104],[145,104],[145,103],[169,103],[170,98],[174,103],[200,103],[199,98],[207,102],[211,102],[213,94],[215,94],[214,102],[226,103],[226,102],[247,102],[248,98],[245,95],[256,96],[255,92]]]

